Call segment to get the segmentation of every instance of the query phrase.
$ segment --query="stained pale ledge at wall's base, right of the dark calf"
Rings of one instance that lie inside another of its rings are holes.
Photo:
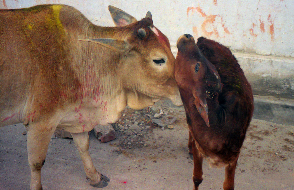
[[[294,98],[294,58],[233,52],[253,93]]]

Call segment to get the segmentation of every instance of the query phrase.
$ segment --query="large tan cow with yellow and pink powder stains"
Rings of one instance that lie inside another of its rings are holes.
[[[175,58],[150,12],[137,21],[109,10],[117,27],[96,26],[66,5],[0,11],[0,126],[23,123],[28,131],[31,189],[42,189],[56,127],[74,138],[90,184],[104,187],[109,179],[93,166],[88,131],[116,122],[126,105],[160,98],[181,105]]]

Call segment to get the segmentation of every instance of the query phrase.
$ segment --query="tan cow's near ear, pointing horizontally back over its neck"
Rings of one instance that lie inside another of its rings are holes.
[[[118,39],[99,38],[99,39],[79,39],[79,40],[94,42],[96,44],[100,44],[104,47],[107,47],[109,49],[113,49],[119,52],[127,52],[132,48],[132,46],[128,42],[124,40],[118,40]]]

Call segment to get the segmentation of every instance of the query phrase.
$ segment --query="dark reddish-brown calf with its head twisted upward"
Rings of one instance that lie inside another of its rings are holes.
[[[253,114],[250,84],[230,50],[190,34],[177,42],[175,77],[186,110],[194,189],[203,180],[202,161],[225,166],[223,189],[234,189],[240,148]],[[199,47],[199,48],[198,48]]]

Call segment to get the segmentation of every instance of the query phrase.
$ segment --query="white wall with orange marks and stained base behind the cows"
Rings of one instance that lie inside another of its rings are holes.
[[[175,54],[181,34],[214,39],[233,51],[255,93],[294,98],[293,0],[3,0],[0,9],[37,4],[74,6],[101,26],[114,26],[108,5],[138,20],[151,11]]]

